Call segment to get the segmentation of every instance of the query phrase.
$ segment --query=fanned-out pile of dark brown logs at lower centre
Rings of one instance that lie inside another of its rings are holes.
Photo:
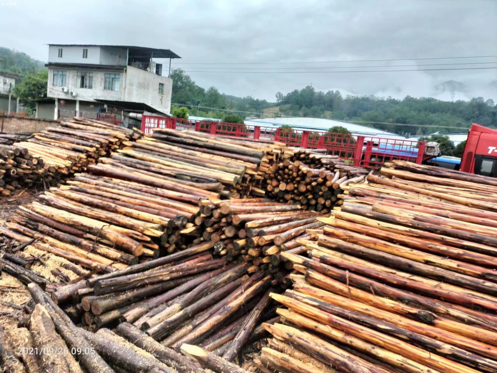
[[[275,309],[268,306],[271,278],[247,263],[213,259],[215,246],[209,241],[67,284],[52,299],[76,304],[78,312],[71,316],[85,326],[124,322],[118,331],[132,324],[162,346],[179,351],[184,343],[194,343],[233,361],[246,343],[264,336],[261,321],[276,321]]]

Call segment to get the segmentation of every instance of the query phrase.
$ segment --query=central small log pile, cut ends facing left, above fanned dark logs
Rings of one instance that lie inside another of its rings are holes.
[[[204,240],[220,243],[216,254],[226,255],[229,262],[251,263],[284,286],[290,284],[291,267],[285,268],[280,253],[300,252],[297,238],[308,238],[310,229],[323,225],[314,211],[267,198],[203,200],[200,212],[195,229]]]

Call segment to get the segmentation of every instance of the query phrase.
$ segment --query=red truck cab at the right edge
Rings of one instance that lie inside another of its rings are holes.
[[[497,178],[497,130],[476,123],[471,125],[461,171]]]

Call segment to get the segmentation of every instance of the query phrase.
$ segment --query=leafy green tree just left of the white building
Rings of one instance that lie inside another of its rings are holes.
[[[15,86],[14,95],[19,97],[21,105],[32,115],[36,109],[36,100],[47,96],[48,70],[28,73],[22,82]]]

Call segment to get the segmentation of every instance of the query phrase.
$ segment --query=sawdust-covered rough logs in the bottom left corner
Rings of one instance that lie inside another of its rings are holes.
[[[206,373],[206,368],[214,373],[248,373],[198,346],[183,344],[181,355],[129,323],[120,324],[115,332],[102,328],[92,333],[76,326],[38,285],[31,283],[28,289],[33,299],[30,315],[8,335],[0,327],[4,372]]]

